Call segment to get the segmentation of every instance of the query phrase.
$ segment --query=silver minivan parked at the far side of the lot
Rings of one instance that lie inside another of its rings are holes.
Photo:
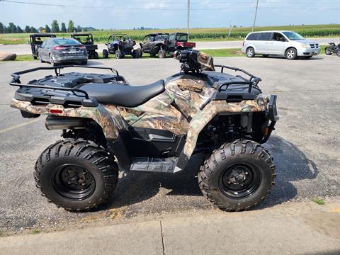
[[[285,56],[288,60],[297,57],[310,58],[318,55],[320,47],[317,42],[306,40],[293,31],[261,31],[246,35],[242,45],[242,52],[247,57],[261,54]]]

